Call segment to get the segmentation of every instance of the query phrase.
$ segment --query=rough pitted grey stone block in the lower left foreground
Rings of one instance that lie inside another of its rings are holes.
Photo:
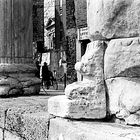
[[[53,118],[47,113],[48,98],[45,95],[1,98],[0,128],[5,129],[6,137],[11,140],[9,136],[13,133],[28,140],[47,139],[49,120]]]

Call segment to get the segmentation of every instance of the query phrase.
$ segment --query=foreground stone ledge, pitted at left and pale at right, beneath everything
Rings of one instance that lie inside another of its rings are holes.
[[[47,95],[1,98],[0,140],[140,139],[139,127],[51,116],[47,107],[49,98]]]

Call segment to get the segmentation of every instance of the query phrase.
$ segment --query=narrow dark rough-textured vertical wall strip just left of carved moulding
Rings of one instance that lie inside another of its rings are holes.
[[[74,0],[66,0],[66,56],[67,79],[70,83],[76,81],[76,18]]]

